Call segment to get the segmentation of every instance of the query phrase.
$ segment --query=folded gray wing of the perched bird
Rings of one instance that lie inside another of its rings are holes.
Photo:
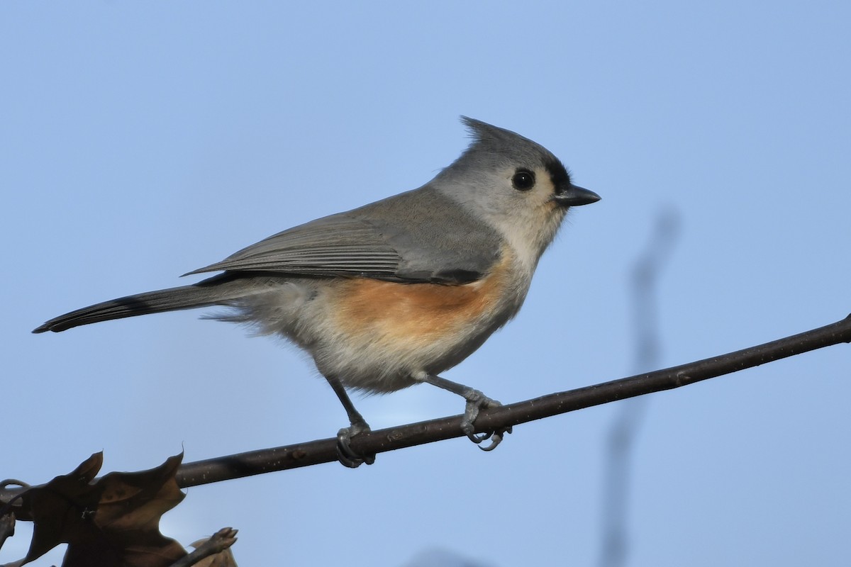
[[[500,237],[427,185],[279,232],[189,274],[219,270],[459,284],[487,274]]]

